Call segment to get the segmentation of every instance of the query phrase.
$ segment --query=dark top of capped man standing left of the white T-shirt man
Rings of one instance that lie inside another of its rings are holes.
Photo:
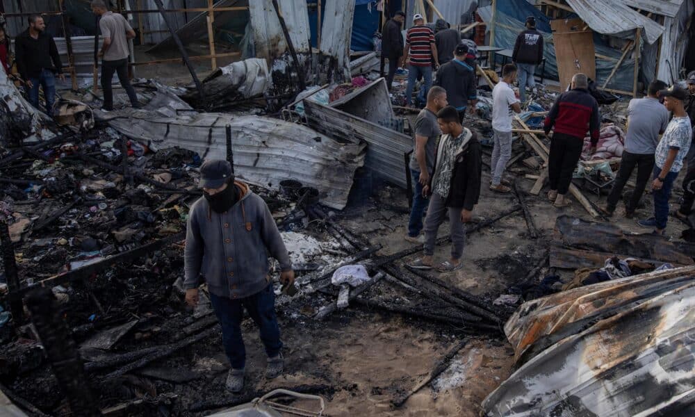
[[[457,59],[445,63],[436,72],[434,85],[446,90],[446,99],[457,110],[477,99],[475,71],[470,65]]]

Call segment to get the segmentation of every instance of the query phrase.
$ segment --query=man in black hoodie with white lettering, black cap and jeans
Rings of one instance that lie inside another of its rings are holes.
[[[519,33],[514,44],[512,61],[519,72],[519,95],[521,102],[526,101],[526,85],[536,88],[533,74],[536,66],[543,62],[543,35],[536,30],[536,18],[526,18],[526,30]]]

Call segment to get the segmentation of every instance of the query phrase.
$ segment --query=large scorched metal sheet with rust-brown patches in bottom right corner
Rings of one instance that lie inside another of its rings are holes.
[[[523,304],[505,325],[519,367],[484,415],[692,415],[693,306],[695,266]]]

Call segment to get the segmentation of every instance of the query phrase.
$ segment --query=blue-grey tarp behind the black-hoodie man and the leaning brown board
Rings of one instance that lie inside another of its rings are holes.
[[[540,12],[537,8],[526,2],[516,2],[513,0],[499,0],[497,2],[497,15],[495,28],[495,45],[500,48],[514,49],[516,36],[525,30],[524,22],[526,17],[533,15],[537,18],[537,28],[543,35],[543,56],[546,58],[545,76],[548,79],[559,79],[557,73],[557,58],[555,57],[555,44],[553,44],[553,34],[550,33],[550,19]],[[492,8],[487,6],[478,8],[483,22],[488,26],[492,20]],[[608,46],[600,35],[594,33],[594,45],[596,53],[604,56],[610,56],[614,60],[605,60],[596,58],[596,82],[603,85],[603,81],[608,78],[613,70],[614,65],[620,59],[622,53],[618,49],[613,49]],[[634,74],[632,68],[635,60],[626,58],[612,77],[607,88],[614,90],[632,91],[632,80]],[[540,74],[540,67],[537,68],[537,74]]]

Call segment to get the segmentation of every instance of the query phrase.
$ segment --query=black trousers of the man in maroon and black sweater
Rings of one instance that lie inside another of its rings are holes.
[[[565,195],[572,182],[572,174],[582,156],[584,139],[564,133],[553,133],[548,156],[548,181],[550,190]]]

